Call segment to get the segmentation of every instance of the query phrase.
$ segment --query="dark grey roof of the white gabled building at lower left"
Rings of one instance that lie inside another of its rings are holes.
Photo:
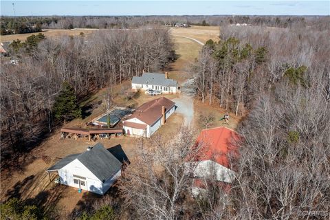
[[[59,170],[74,161],[74,159],[78,159],[91,173],[103,182],[115,175],[122,168],[122,162],[115,158],[102,144],[98,143],[90,151],[65,157],[47,171]]]

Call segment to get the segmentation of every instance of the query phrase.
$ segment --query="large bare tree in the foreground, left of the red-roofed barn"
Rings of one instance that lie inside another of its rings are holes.
[[[193,137],[190,129],[182,127],[170,140],[161,136],[140,140],[135,165],[125,170],[120,185],[126,205],[135,214],[132,218],[180,217],[191,181],[186,162],[194,160],[199,150],[192,148]]]

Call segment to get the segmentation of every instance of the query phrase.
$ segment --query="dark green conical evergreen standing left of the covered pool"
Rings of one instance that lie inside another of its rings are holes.
[[[55,100],[54,114],[55,118],[64,120],[81,117],[74,88],[67,82],[63,83],[62,90]]]

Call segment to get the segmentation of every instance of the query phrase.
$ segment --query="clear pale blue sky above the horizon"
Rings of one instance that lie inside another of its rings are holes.
[[[329,15],[330,1],[3,1],[1,15]]]

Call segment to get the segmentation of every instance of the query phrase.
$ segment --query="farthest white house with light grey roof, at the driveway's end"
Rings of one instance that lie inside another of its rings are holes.
[[[153,89],[162,91],[164,94],[177,93],[177,81],[168,78],[165,74],[143,73],[142,76],[133,76],[132,89],[147,90]]]

